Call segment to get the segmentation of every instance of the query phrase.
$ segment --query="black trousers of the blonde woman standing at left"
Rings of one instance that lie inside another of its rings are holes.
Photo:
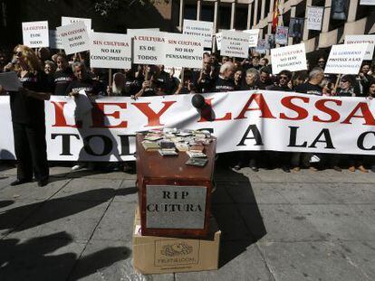
[[[14,151],[17,158],[17,178],[37,181],[47,179],[49,167],[44,122],[22,124],[13,122]]]

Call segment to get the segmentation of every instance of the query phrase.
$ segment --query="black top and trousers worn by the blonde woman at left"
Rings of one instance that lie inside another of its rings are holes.
[[[20,78],[23,87],[35,92],[53,92],[44,72]],[[33,172],[37,181],[49,177],[47,144],[45,141],[44,101],[10,92],[10,106],[14,133],[14,151],[17,158],[17,179],[31,181]]]

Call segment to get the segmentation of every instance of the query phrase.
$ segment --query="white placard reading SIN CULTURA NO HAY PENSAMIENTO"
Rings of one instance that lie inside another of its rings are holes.
[[[203,37],[166,33],[164,64],[175,67],[201,68]]]

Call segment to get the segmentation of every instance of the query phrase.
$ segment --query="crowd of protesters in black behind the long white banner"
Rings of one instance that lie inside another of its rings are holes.
[[[17,56],[17,46],[14,58]],[[27,48],[27,47],[25,47]],[[81,52],[66,56],[63,52],[52,54],[47,48],[36,53],[44,83],[49,83],[52,94],[77,96],[84,89],[88,95],[151,97],[162,95],[226,92],[248,89],[280,90],[317,96],[375,97],[375,72],[371,61],[363,61],[358,75],[327,75],[323,69],[325,58],[315,63],[308,61],[308,70],[291,72],[282,70],[277,75],[266,58],[258,52],[249,52],[248,59],[231,59],[205,52],[201,69],[183,69],[178,76],[176,70],[166,71],[162,65],[133,65],[129,70],[113,70],[109,81],[108,70],[90,68],[90,55]],[[11,62],[8,62],[11,61]],[[0,53],[0,71],[13,70],[12,58]],[[181,82],[180,82],[181,80]],[[45,89],[45,87],[43,88]],[[366,155],[312,155],[286,152],[246,152],[224,155],[235,170],[249,166],[253,171],[259,167],[281,167],[284,172],[309,168],[314,171],[343,167],[351,172],[360,170],[375,172],[375,159]],[[275,161],[277,159],[277,161]],[[312,159],[320,161],[312,163]],[[80,166],[75,165],[75,169]]]

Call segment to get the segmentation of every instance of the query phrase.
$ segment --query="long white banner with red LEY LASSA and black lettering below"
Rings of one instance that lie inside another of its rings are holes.
[[[45,107],[48,158],[130,160],[135,133],[158,127],[209,129],[217,136],[218,153],[275,150],[374,155],[375,100],[267,90],[204,96],[212,106],[209,116],[193,108],[191,95],[99,98],[81,114],[81,127],[74,121],[74,100],[53,96]],[[9,97],[0,97],[0,126],[7,132],[0,138],[0,157],[10,159],[14,143]]]

